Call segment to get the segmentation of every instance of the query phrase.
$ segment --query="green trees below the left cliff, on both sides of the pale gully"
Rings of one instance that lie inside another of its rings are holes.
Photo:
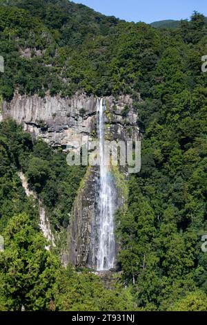
[[[30,188],[37,192],[46,205],[53,228],[66,228],[72,203],[86,168],[68,166],[66,154],[61,149],[54,150],[41,140],[32,143],[30,135],[24,133],[12,120],[1,122],[0,136],[0,225],[5,225],[8,217],[25,209],[24,204],[29,204],[27,198],[24,203],[25,194],[17,176],[17,169],[21,169],[28,178]]]

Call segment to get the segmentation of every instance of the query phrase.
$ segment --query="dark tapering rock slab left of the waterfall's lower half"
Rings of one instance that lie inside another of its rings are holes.
[[[99,200],[99,170],[90,167],[79,189],[79,194],[68,226],[67,247],[62,255],[64,265],[95,268],[97,238],[96,215]]]

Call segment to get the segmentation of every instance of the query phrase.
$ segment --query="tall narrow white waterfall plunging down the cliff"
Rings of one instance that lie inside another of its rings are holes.
[[[100,165],[100,193],[99,193],[99,245],[97,252],[97,270],[110,270],[115,266],[115,187],[112,182],[110,166],[104,163],[104,123],[105,104],[103,99],[97,102],[99,113],[99,165]],[[98,115],[98,114],[97,114]]]

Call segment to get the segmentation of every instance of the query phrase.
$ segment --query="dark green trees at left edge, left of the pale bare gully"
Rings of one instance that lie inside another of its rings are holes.
[[[26,198],[17,176],[20,161],[27,158],[32,141],[14,122],[0,124],[0,233],[14,215],[26,212],[37,227],[38,211]]]

